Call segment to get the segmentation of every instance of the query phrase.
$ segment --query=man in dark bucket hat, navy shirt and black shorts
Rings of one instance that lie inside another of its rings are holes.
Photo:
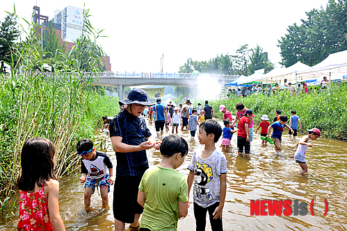
[[[138,185],[143,173],[148,169],[146,150],[159,150],[160,142],[150,142],[151,132],[145,119],[140,114],[146,106],[154,105],[148,102],[148,96],[143,89],[132,89],[127,99],[119,101],[120,105],[128,105],[120,112],[110,125],[110,137],[117,168],[115,189],[113,191],[113,216],[115,230],[124,230],[125,223],[131,223],[132,228],[138,228],[138,219],[143,207],[138,204]]]

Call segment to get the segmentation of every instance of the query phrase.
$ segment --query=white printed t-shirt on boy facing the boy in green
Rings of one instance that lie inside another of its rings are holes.
[[[195,151],[188,169],[194,171],[194,202],[209,207],[220,201],[220,174],[227,173],[227,159],[217,149],[207,159]]]

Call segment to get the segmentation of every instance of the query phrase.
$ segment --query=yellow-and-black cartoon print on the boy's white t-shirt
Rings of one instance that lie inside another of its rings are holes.
[[[200,164],[196,163],[197,169],[195,171],[195,196],[196,198],[207,198],[208,200],[212,200],[213,197],[210,194],[211,189],[204,188],[205,185],[207,185],[208,182],[210,182],[213,179],[213,172],[211,169],[211,166],[209,164]],[[200,187],[202,186],[202,187]]]

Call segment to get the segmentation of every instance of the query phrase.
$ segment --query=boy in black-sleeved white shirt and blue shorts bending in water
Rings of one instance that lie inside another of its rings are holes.
[[[95,151],[90,139],[81,139],[77,143],[77,153],[81,158],[81,183],[86,182],[84,191],[84,204],[90,207],[90,197],[94,194],[95,187],[100,187],[103,207],[108,207],[108,192],[113,185],[113,165],[106,153]],[[109,171],[109,175],[108,175]]]

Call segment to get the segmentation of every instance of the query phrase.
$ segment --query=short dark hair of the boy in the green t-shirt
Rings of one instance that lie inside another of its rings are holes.
[[[184,157],[188,153],[188,143],[178,135],[169,135],[161,142],[160,152],[165,157],[172,157],[176,153],[181,153],[182,157]]]

